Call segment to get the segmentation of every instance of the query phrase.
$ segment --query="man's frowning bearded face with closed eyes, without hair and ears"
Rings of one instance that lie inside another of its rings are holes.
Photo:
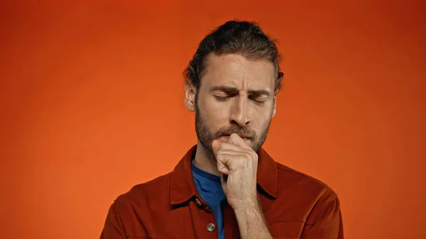
[[[197,137],[209,157],[212,141],[237,133],[257,151],[275,114],[275,70],[267,60],[209,55],[195,96]]]

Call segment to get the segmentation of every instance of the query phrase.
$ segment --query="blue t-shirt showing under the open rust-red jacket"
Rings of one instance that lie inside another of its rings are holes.
[[[197,187],[200,196],[209,204],[216,218],[217,232],[219,239],[224,239],[222,209],[220,203],[226,200],[226,195],[222,189],[220,177],[209,172],[205,172],[195,165],[192,165],[192,176],[194,177],[195,187]]]

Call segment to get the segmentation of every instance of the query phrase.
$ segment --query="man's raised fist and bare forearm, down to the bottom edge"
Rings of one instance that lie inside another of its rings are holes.
[[[256,176],[258,155],[236,133],[227,143],[213,140],[217,169],[222,173],[222,188],[234,209],[242,239],[272,239],[258,202]]]

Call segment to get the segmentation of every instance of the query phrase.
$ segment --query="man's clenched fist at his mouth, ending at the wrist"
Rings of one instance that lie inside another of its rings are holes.
[[[236,133],[231,134],[228,143],[213,140],[212,148],[229,205],[234,210],[258,206],[256,152]]]

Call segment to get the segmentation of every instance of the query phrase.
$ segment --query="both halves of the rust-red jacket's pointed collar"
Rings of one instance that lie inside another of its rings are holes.
[[[191,160],[197,150],[197,145],[190,150],[178,162],[172,172],[172,182],[170,188],[170,203],[173,205],[182,204],[190,200],[193,196],[200,197],[197,187],[192,178]],[[277,197],[278,172],[275,161],[268,153],[261,148],[258,150],[258,173],[257,183],[263,191],[274,199]]]

